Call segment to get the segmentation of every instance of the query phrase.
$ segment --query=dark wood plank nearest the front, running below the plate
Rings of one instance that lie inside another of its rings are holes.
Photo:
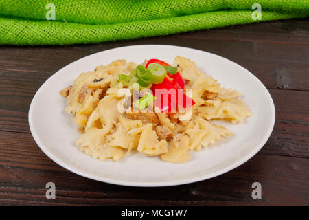
[[[104,184],[68,171],[29,168],[0,160],[2,205],[309,205],[308,159],[256,155],[225,175],[183,186],[135,188]],[[56,199],[45,198],[45,184],[56,184]],[[262,199],[251,185],[262,184]]]

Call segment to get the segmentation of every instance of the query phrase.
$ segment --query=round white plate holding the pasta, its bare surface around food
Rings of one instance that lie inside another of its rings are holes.
[[[159,58],[172,63],[177,55],[195,61],[202,72],[213,76],[222,86],[240,91],[253,116],[240,124],[216,122],[234,135],[201,151],[190,151],[192,159],[185,164],[170,164],[141,153],[133,153],[119,162],[100,162],[79,151],[74,144],[79,136],[77,126],[64,111],[66,101],[60,96],[60,89],[71,85],[80,73],[117,59],[142,63],[144,59]],[[274,123],[271,95],[247,69],[215,54],[170,45],[119,47],[81,58],[51,76],[36,92],[29,110],[34,140],[54,162],[78,175],[126,186],[174,186],[226,173],[260,151]]]

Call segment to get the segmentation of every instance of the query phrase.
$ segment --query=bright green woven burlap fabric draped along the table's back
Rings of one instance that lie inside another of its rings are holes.
[[[55,6],[55,21],[46,14]],[[262,19],[251,15],[254,3]],[[0,44],[69,45],[309,16],[309,0],[0,0]]]

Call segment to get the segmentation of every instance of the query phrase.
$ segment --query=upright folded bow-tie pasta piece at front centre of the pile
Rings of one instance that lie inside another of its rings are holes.
[[[137,151],[145,153],[148,156],[160,155],[168,153],[168,142],[166,140],[158,140],[155,131],[152,130],[152,124],[147,124],[141,133]]]

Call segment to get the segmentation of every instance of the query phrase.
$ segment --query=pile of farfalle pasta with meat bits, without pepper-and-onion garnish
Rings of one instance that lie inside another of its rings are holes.
[[[73,115],[81,133],[76,140],[80,150],[102,161],[117,161],[137,151],[149,157],[159,156],[165,162],[183,163],[191,159],[190,151],[200,151],[232,135],[211,120],[237,124],[252,115],[238,91],[221,87],[193,61],[176,56],[174,67],[194,100],[185,112],[132,112],[134,105],[127,102],[131,97],[121,91],[127,89],[132,94],[134,88],[119,78],[129,77],[137,64],[125,60],[84,72],[62,89],[60,94],[67,99],[65,111]]]

